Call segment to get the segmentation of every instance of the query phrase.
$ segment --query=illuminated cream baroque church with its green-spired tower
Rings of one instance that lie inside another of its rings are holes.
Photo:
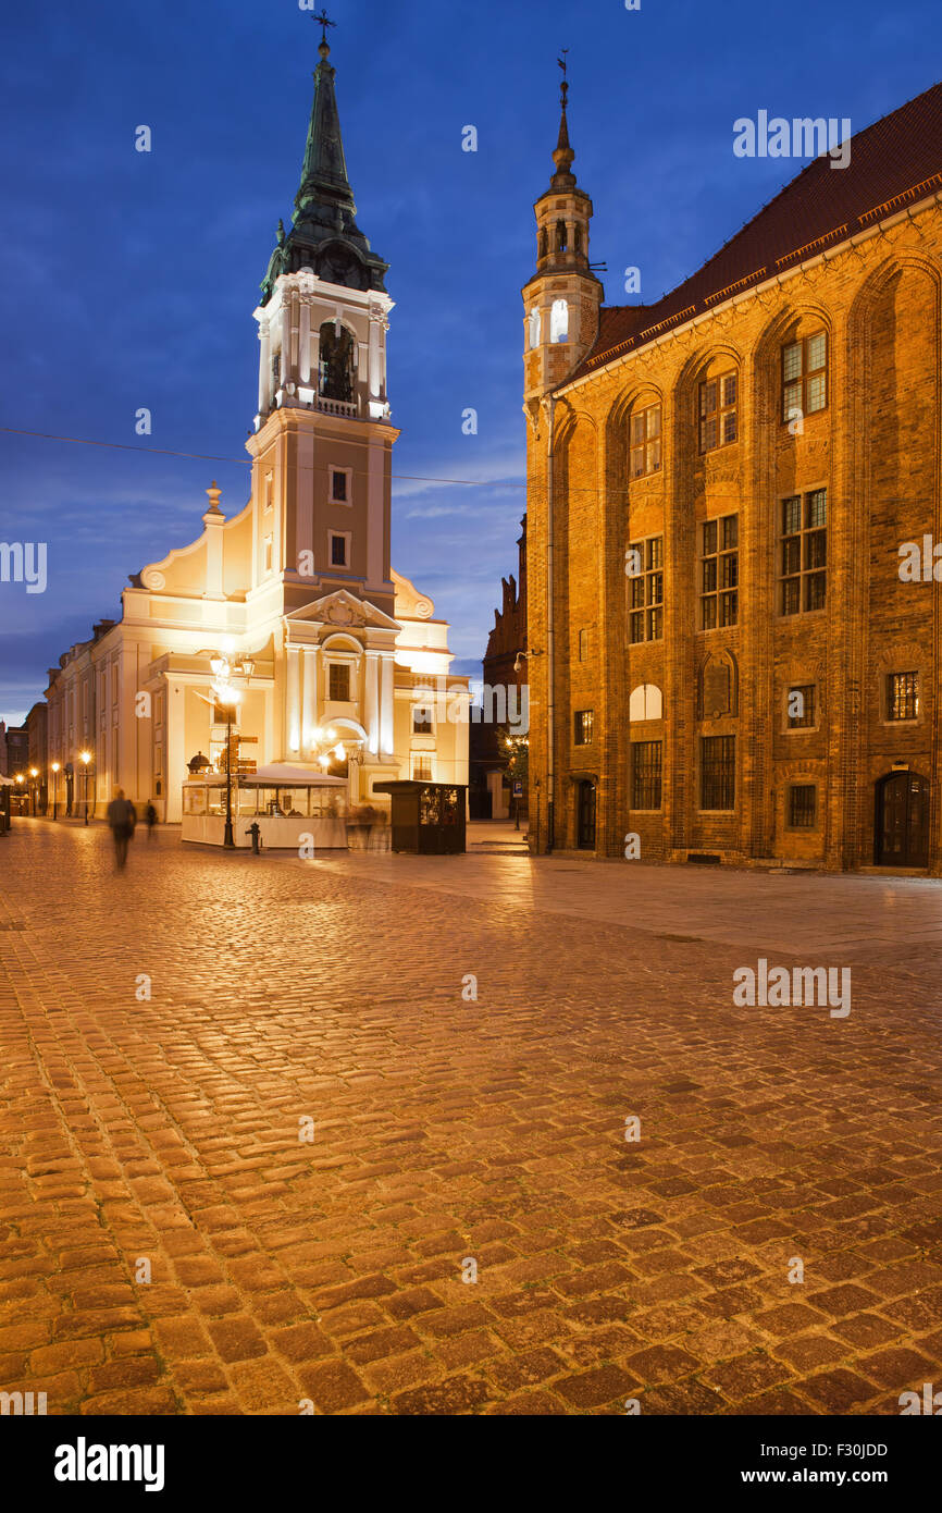
[[[121,787],[175,822],[189,763],[225,772],[218,658],[245,670],[233,719],[246,764],[346,778],[349,802],[376,808],[376,782],[467,784],[467,679],[449,675],[448,623],[390,564],[393,301],[357,225],[324,39],[319,53],[292,228],[278,225],[254,312],[251,496],[227,517],[207,489],[200,537],[136,573],[121,620],[50,669],[48,760],[73,811],[86,784],[92,812]],[[448,722],[417,702],[440,678]]]

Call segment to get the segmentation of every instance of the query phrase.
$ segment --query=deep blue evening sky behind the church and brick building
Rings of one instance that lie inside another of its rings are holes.
[[[318,0],[318,8],[321,0]],[[333,0],[330,33],[361,230],[390,263],[389,392],[402,436],[393,564],[479,672],[525,508],[520,287],[558,127],[594,201],[606,301],[641,268],[652,301],[729,239],[801,162],[738,159],[759,109],[859,130],[942,73],[937,0]],[[0,123],[0,425],[239,458],[256,410],[251,312],[289,222],[319,29],[298,0],[50,0],[9,11]],[[153,151],[133,148],[135,127]],[[478,151],[461,151],[461,129]],[[940,165],[942,166],[942,165]],[[153,436],[135,436],[135,412]],[[478,410],[463,436],[461,412]],[[48,587],[0,584],[0,717],[119,613],[127,575],[227,514],[245,463],[0,431],[0,540],[47,542]]]

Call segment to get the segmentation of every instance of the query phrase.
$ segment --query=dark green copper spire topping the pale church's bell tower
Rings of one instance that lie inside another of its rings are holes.
[[[268,304],[281,274],[301,268],[325,283],[348,289],[386,290],[383,275],[389,263],[370,251],[357,225],[354,191],[346,177],[340,115],[334,94],[336,70],[328,62],[327,27],[334,23],[327,15],[315,17],[321,26],[321,62],[315,68],[315,100],[311,104],[301,186],[295,195],[292,228],[278,238],[268,272],[262,281],[262,304]]]

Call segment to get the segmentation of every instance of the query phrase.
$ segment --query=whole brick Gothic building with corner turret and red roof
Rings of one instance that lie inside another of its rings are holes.
[[[848,157],[606,307],[564,86],[523,289],[538,852],[942,871],[942,86]]]

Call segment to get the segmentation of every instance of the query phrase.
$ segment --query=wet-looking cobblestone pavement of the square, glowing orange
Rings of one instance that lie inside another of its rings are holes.
[[[921,879],[174,832],[116,876],[100,826],[17,822],[0,1389],[898,1413],[942,1386],[940,905]],[[759,956],[850,965],[850,1015],[736,1006]]]

